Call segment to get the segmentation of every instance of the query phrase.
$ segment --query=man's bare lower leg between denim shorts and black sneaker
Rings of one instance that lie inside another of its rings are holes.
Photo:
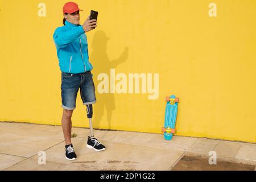
[[[72,114],[73,114],[73,110],[63,109],[61,125],[62,125],[62,130],[63,130],[66,145],[72,144],[71,143]]]

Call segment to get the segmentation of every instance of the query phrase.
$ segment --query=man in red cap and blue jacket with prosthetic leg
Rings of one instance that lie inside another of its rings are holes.
[[[65,158],[75,160],[76,153],[71,142],[72,113],[76,108],[77,92],[80,88],[82,102],[86,105],[87,117],[90,122],[91,136],[88,136],[86,147],[96,151],[105,150],[93,137],[92,104],[96,102],[95,88],[92,79],[93,69],[89,62],[88,43],[85,32],[97,26],[96,20],[89,20],[80,25],[80,10],[75,2],[65,3],[63,7],[64,26],[56,28],[53,40],[57,49],[57,57],[61,70],[61,100],[63,115],[61,119],[65,138]]]

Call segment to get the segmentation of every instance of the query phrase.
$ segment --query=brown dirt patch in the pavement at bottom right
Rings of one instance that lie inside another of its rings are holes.
[[[217,164],[209,164],[205,156],[188,156],[183,158],[172,168],[172,171],[254,171],[255,166],[218,160]]]

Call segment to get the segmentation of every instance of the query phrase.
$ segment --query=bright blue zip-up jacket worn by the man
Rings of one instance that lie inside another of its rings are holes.
[[[88,43],[82,26],[66,21],[65,26],[56,28],[53,40],[61,71],[83,73],[93,69],[89,62]]]

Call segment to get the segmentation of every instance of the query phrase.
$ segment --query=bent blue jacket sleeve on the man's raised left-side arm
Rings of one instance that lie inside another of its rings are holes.
[[[53,34],[53,40],[57,47],[64,48],[79,38],[81,34],[84,34],[84,28],[82,26],[72,28],[69,31],[61,31],[60,28],[57,28]]]

